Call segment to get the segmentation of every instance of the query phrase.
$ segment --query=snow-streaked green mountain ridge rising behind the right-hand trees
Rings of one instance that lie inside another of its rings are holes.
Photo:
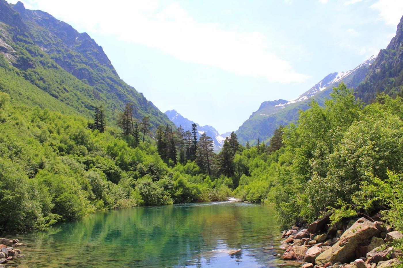
[[[347,72],[334,72],[320,80],[314,87],[299,95],[297,98],[287,101],[278,99],[263,102],[259,109],[252,113],[248,120],[236,131],[241,144],[249,141],[255,144],[259,138],[261,142],[269,142],[274,130],[278,126],[286,126],[296,122],[299,110],[309,108],[308,104],[312,99],[323,105],[326,98],[330,97],[333,87],[343,81],[347,87],[356,88],[366,77],[368,68],[374,63],[376,56],[370,57],[353,70]]]

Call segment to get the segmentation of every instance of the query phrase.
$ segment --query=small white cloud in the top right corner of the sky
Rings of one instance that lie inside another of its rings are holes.
[[[378,0],[370,8],[378,10],[386,25],[398,25],[403,15],[403,1]]]

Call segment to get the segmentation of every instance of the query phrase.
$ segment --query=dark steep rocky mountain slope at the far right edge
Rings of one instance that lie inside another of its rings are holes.
[[[395,37],[386,49],[380,50],[364,82],[357,87],[356,95],[371,103],[380,92],[403,95],[403,16]]]

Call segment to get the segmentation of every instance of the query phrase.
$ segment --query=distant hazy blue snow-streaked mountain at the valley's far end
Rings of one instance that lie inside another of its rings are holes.
[[[168,116],[168,118],[175,123],[175,126],[179,127],[182,126],[183,130],[187,131],[192,131],[192,124],[195,124],[195,122],[184,118],[180,113],[178,113],[175,110],[170,110],[166,111],[165,114]],[[203,133],[206,133],[206,135],[213,140],[213,146],[214,150],[221,150],[222,144],[224,144],[224,140],[226,136],[229,136],[228,133],[220,135],[218,131],[213,128],[212,126],[200,126],[197,124],[197,137],[200,138]],[[230,133],[231,134],[231,133]]]

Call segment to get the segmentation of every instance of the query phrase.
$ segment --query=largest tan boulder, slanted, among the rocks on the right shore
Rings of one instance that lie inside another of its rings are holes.
[[[380,231],[373,222],[364,217],[360,218],[343,233],[337,243],[316,258],[315,264],[323,266],[327,262],[349,262],[355,258],[355,248],[357,246],[379,234]]]

